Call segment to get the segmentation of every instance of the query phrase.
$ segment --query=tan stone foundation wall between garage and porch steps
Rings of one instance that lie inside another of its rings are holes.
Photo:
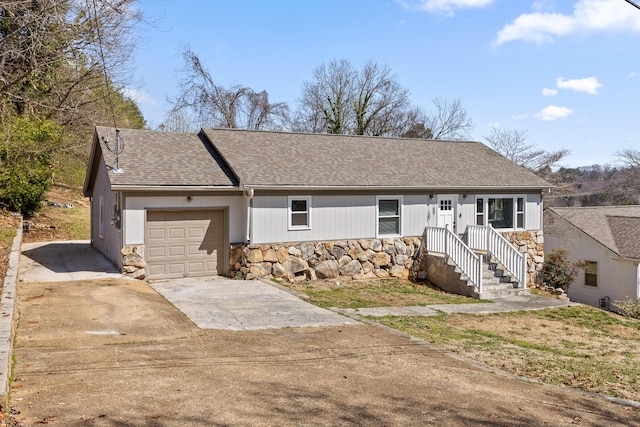
[[[407,279],[419,237],[231,245],[229,276],[295,280],[398,277]]]

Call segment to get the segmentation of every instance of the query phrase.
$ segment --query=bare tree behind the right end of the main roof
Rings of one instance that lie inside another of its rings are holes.
[[[526,130],[491,128],[491,134],[484,138],[498,153],[538,174],[548,173],[570,153],[564,148],[545,151],[534,144],[527,144]]]

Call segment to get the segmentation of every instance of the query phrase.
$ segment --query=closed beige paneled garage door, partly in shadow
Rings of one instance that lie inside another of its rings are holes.
[[[148,211],[150,279],[225,274],[224,211]]]

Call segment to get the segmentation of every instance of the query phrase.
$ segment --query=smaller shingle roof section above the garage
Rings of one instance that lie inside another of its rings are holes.
[[[105,162],[115,167],[116,132],[96,127]],[[195,133],[121,129],[120,168],[109,168],[112,185],[129,186],[237,186],[237,179],[208,141]],[[107,144],[109,147],[107,148]]]

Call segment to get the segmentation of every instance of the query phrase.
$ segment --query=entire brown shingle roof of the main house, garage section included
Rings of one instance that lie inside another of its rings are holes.
[[[110,166],[113,186],[542,189],[551,184],[479,142],[203,129],[172,133],[96,127],[90,174]],[[108,142],[108,146],[107,146]]]

